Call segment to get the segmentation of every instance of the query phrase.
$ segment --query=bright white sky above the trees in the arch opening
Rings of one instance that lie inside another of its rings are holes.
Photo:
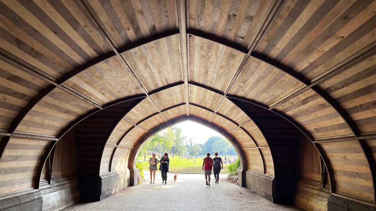
[[[182,135],[186,136],[187,140],[191,137],[193,143],[205,143],[206,140],[212,136],[223,137],[220,133],[217,133],[217,131],[189,120],[180,122],[176,124],[176,126],[182,128]]]

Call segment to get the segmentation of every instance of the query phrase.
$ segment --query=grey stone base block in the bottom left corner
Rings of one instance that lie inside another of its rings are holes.
[[[42,193],[39,191],[0,200],[0,210],[4,211],[39,211],[42,208]]]

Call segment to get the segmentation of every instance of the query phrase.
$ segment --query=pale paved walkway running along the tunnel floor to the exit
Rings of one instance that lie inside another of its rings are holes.
[[[262,210],[285,211],[302,210],[292,205],[271,203],[247,188],[225,180],[220,175],[219,184],[205,185],[204,175],[182,174],[173,182],[172,173],[168,174],[167,184],[162,184],[161,173],[156,173],[156,183],[149,184],[149,172],[145,172],[141,185],[128,187],[99,202],[79,203],[67,207],[65,211],[92,210]]]

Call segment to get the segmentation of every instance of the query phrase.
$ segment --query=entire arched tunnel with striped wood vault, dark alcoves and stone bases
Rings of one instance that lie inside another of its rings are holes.
[[[0,209],[135,185],[141,145],[191,120],[273,203],[375,210],[375,14],[373,0],[1,0]]]

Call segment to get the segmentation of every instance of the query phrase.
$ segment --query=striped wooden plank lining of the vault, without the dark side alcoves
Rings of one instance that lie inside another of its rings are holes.
[[[133,146],[188,115],[223,128],[249,168],[268,162],[252,170],[273,175],[267,138],[236,99],[296,125],[334,169],[332,192],[373,204],[375,8],[373,0],[1,0],[0,181],[25,165],[35,169],[16,177],[35,178],[46,146],[92,113],[140,97],[105,157],[126,159],[129,150],[113,145]],[[343,153],[364,161],[346,164]],[[364,186],[367,194],[357,192]]]

